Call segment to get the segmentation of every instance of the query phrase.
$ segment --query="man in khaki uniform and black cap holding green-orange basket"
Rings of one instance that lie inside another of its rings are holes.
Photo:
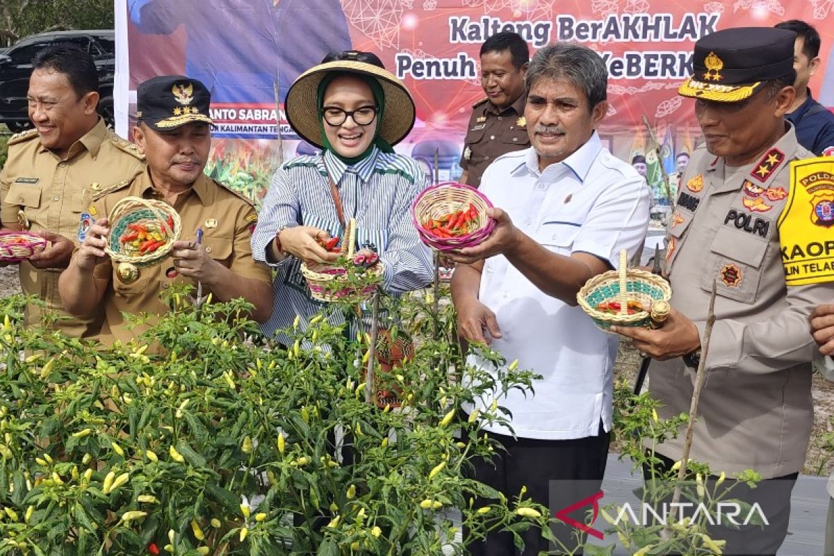
[[[58,287],[70,313],[85,315],[103,301],[107,314],[102,341],[127,342],[141,329],[129,329],[122,312],[160,314],[159,299],[170,283],[203,285],[203,293],[229,301],[246,298],[253,318],[264,322],[272,310],[269,268],[252,258],[249,240],[257,220],[249,201],[203,174],[211,146],[209,93],[203,83],[179,75],[149,79],[137,90],[138,125],[133,137],[148,159],[137,178],[118,183],[93,198],[89,212],[98,220],[61,275]],[[158,198],[176,208],[184,240],[156,266],[114,265],[103,247],[107,216],[125,197]],[[197,230],[203,233],[198,241]]]

